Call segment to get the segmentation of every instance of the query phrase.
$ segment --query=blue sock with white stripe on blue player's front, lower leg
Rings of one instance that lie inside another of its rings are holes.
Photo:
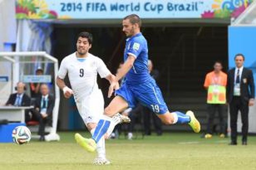
[[[93,133],[93,139],[98,143],[101,137],[108,131],[110,125],[109,120],[100,119],[95,131]]]

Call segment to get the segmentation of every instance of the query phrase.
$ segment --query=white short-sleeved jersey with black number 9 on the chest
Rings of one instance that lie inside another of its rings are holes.
[[[64,79],[67,73],[76,102],[82,101],[94,90],[99,89],[97,84],[98,73],[101,78],[111,74],[99,57],[88,53],[88,56],[81,62],[76,57],[76,52],[66,56],[60,64],[58,77]]]

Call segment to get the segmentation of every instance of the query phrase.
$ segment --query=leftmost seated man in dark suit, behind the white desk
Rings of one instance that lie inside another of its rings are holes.
[[[11,94],[8,101],[6,102],[6,106],[30,106],[31,99],[28,95],[25,94],[25,84],[23,82],[18,82],[16,93]],[[29,109],[25,110],[25,122],[30,120]]]

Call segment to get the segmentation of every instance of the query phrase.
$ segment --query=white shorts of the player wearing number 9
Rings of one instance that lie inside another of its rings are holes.
[[[104,112],[104,98],[101,90],[94,90],[89,96],[76,102],[76,106],[85,125],[98,123],[100,116]]]

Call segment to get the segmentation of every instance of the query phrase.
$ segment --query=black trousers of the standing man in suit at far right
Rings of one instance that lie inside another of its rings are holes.
[[[248,135],[248,102],[242,100],[241,97],[233,97],[229,104],[230,107],[230,127],[231,127],[231,140],[237,142],[237,117],[238,111],[241,112],[242,118],[242,140],[247,141]]]

